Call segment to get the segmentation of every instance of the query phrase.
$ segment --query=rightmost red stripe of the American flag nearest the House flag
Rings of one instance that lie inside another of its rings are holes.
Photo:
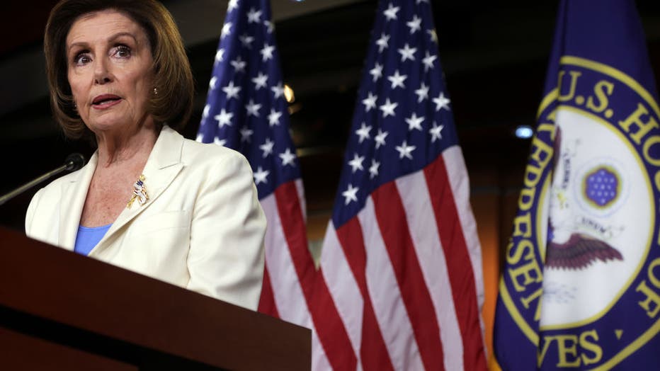
[[[424,176],[447,261],[458,326],[463,340],[463,364],[465,370],[487,370],[474,271],[443,156],[438,156],[436,161],[426,166]]]

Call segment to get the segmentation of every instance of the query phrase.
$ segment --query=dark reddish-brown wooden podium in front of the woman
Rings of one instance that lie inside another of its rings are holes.
[[[309,370],[311,336],[0,227],[0,370]]]

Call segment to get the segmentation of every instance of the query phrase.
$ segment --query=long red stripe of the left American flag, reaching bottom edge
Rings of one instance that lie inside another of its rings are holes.
[[[357,358],[348,333],[307,247],[307,233],[295,181],[275,189],[275,203],[309,314],[328,361],[336,370],[355,370]]]

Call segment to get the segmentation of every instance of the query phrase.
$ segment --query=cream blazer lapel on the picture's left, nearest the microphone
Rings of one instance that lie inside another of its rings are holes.
[[[67,250],[74,249],[80,217],[87,198],[91,177],[96,171],[98,152],[94,152],[89,162],[76,178],[62,186],[62,199],[59,207],[59,246]]]

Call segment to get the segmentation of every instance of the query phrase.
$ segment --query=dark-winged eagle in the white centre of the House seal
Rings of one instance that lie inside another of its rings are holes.
[[[561,176],[559,154],[562,131],[558,125],[555,130],[553,167],[555,176]],[[575,231],[575,218],[562,190],[551,196],[548,219],[548,244],[545,252],[547,268],[578,270],[590,266],[593,261],[623,260],[621,253],[607,242]]]

